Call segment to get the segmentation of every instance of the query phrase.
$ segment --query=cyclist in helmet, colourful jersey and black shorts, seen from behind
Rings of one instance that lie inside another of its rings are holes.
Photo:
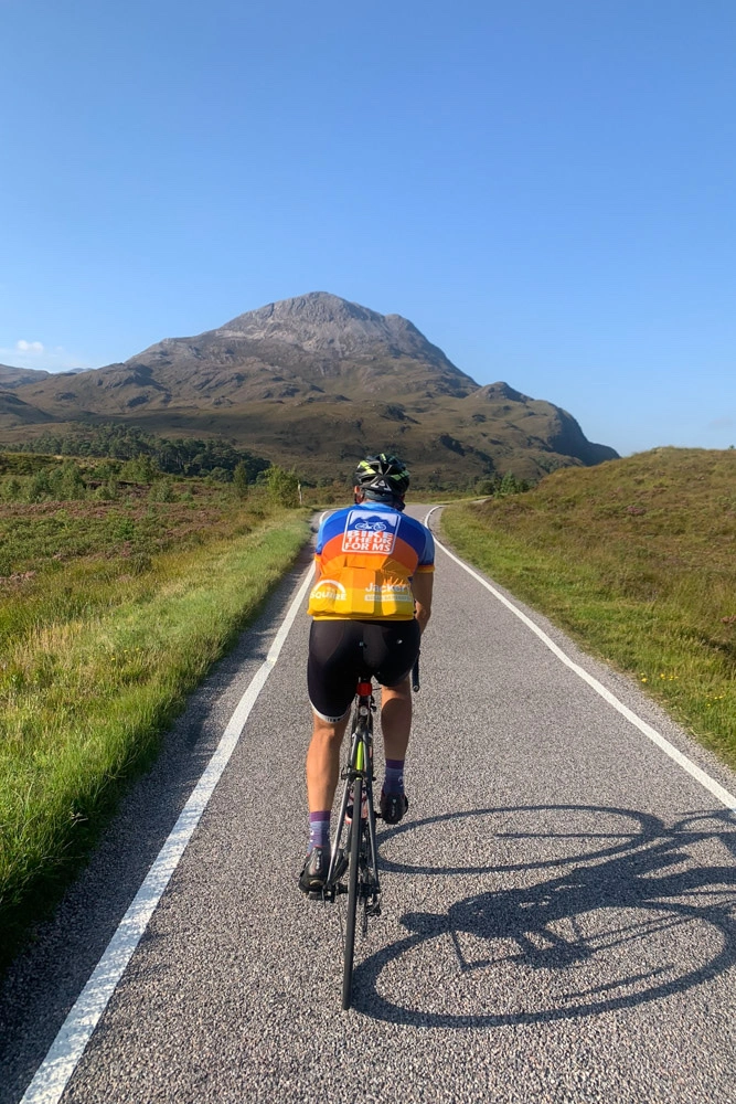
[[[409,473],[395,456],[381,453],[361,460],[355,505],[331,513],[317,534],[307,672],[314,714],[307,753],[309,851],[299,878],[305,893],[321,890],[330,864],[340,745],[360,673],[375,676],[382,687],[386,774],[381,814],[395,825],[408,808],[409,675],[431,613],[435,570],[431,533],[402,513],[408,486]]]

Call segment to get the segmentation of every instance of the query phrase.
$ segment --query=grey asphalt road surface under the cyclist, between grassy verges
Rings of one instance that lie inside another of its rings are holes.
[[[23,1097],[302,569],[192,699],[9,974],[0,1104]],[[64,1104],[736,1101],[733,815],[441,551],[435,594],[412,808],[380,832],[384,909],[356,945],[355,1008],[340,1010],[338,912],[296,885],[310,730],[300,613]],[[736,793],[636,683],[526,613]]]

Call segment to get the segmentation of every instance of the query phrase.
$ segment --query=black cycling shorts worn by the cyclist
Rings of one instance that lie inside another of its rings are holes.
[[[360,675],[395,687],[412,672],[419,655],[417,620],[314,620],[309,634],[307,684],[312,709],[323,721],[339,721],[355,694]]]

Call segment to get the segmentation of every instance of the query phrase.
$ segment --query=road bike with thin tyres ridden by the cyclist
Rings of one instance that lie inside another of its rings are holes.
[[[412,672],[412,686],[419,689],[418,660]],[[360,676],[350,725],[350,754],[341,772],[344,781],[340,815],[330,853],[330,867],[323,889],[326,901],[348,898],[344,925],[342,1007],[350,1008],[355,955],[355,930],[367,935],[369,919],[381,915],[381,879],[375,821],[381,814],[373,804],[373,714],[376,704],[373,681]],[[343,838],[344,837],[344,838]]]

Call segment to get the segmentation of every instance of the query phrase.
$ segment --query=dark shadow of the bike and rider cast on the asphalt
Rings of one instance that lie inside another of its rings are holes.
[[[623,816],[639,828],[593,852],[526,863],[404,867],[384,860],[383,869],[433,878],[495,872],[506,888],[462,898],[446,912],[403,915],[408,935],[358,966],[354,1007],[417,1027],[542,1022],[658,1000],[736,964],[736,863],[702,864],[691,853],[717,840],[725,857],[736,859],[736,822],[727,810],[696,813],[671,827],[630,809],[559,807],[568,820],[570,810]],[[509,811],[531,819],[540,807],[449,814],[402,826],[382,842],[399,831]],[[544,868],[554,872],[533,884],[521,873]],[[526,884],[508,888],[510,870]],[[405,1005],[385,995],[394,969]],[[441,990],[436,981],[423,989],[429,976],[442,977]],[[412,997],[408,977],[418,978]]]

